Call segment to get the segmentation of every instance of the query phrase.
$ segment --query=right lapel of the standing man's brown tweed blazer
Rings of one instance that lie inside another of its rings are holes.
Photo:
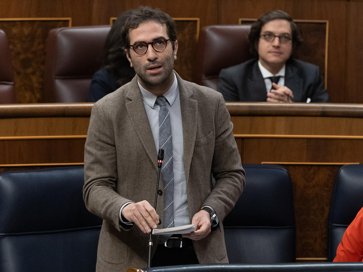
[[[188,185],[189,170],[192,162],[195,137],[197,133],[197,101],[192,98],[193,92],[186,88],[184,80],[176,74],[179,87],[181,121],[183,123],[184,170]]]

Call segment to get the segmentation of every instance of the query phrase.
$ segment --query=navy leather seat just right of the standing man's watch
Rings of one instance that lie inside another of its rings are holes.
[[[229,263],[295,261],[291,178],[278,165],[243,166],[246,186],[223,221]]]

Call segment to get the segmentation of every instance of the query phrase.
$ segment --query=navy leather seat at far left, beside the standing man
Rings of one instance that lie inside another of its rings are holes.
[[[0,272],[95,271],[102,219],[83,184],[83,167],[0,175]]]

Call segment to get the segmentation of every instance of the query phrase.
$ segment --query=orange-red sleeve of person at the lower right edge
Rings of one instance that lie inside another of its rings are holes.
[[[333,261],[363,261],[363,208],[344,232]]]

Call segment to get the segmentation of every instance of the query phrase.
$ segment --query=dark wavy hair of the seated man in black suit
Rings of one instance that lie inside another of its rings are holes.
[[[248,35],[248,38],[249,38],[249,42],[250,42],[250,50],[254,56],[258,55],[257,46],[258,46],[258,41],[260,40],[262,26],[264,26],[266,23],[268,23],[270,21],[277,20],[277,19],[286,20],[290,23],[291,34],[292,34],[292,38],[293,38],[293,40],[292,40],[293,50],[295,50],[296,48],[298,48],[301,45],[301,43],[302,43],[301,30],[294,23],[293,19],[291,19],[291,17],[284,11],[281,11],[281,10],[271,11],[271,12],[268,12],[268,13],[265,13],[264,15],[262,15],[251,26],[251,31]]]

